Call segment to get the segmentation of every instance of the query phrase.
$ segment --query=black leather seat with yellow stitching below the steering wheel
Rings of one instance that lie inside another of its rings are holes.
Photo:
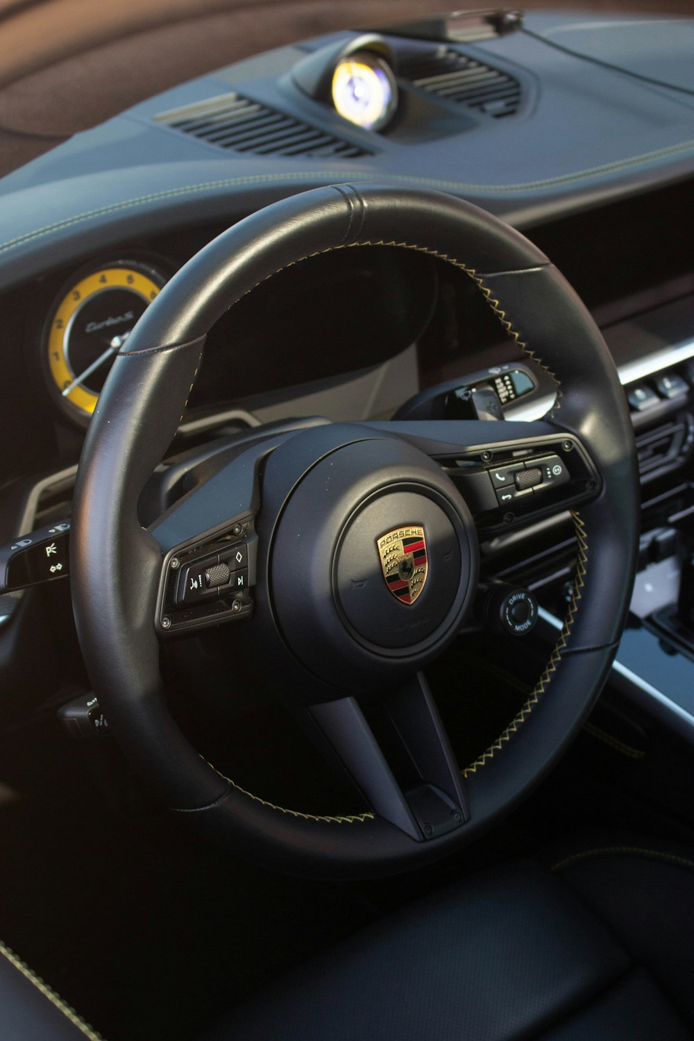
[[[205,1041],[691,1041],[694,859],[605,843],[515,862],[354,936]],[[0,1036],[98,1035],[0,945]]]

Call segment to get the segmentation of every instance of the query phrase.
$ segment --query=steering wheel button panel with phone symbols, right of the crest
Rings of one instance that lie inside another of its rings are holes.
[[[568,509],[599,490],[597,471],[570,434],[528,445],[489,445],[457,459],[446,472],[479,528],[489,532]]]

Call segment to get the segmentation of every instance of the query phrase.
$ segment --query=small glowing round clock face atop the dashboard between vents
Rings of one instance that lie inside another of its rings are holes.
[[[397,107],[397,83],[387,61],[371,51],[340,58],[333,73],[338,116],[364,130],[382,130]]]

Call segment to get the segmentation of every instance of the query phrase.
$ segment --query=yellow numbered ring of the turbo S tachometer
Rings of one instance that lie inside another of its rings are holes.
[[[52,298],[41,335],[42,367],[52,401],[73,422],[87,426],[99,400],[99,395],[86,387],[75,387],[67,398],[60,389],[73,378],[69,336],[79,311],[87,302],[113,288],[129,290],[149,304],[170,277],[158,262],[135,257],[106,258],[78,269]]]

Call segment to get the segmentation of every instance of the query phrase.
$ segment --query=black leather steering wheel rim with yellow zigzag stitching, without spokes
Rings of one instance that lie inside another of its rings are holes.
[[[465,826],[429,842],[413,841],[374,813],[316,816],[274,806],[198,755],[166,707],[152,608],[161,554],[136,516],[213,323],[287,265],[361,246],[415,249],[465,272],[507,333],[552,375],[557,400],[548,418],[581,439],[601,477],[599,496],[573,514],[574,596],[547,666],[499,738],[463,770]],[[580,728],[628,609],[638,545],[633,428],[614,362],[581,300],[543,253],[475,206],[434,192],[335,185],[275,203],[210,243],[168,283],[126,348],[87,433],[71,535],[80,644],[124,751],[174,812],[294,872],[385,874],[469,841],[531,790]]]

